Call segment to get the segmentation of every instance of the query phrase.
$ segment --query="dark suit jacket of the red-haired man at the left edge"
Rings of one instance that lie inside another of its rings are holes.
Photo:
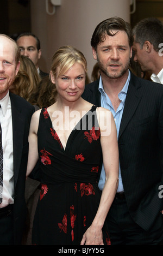
[[[14,244],[22,239],[26,219],[24,189],[28,159],[28,134],[34,107],[23,98],[10,93],[14,150]]]

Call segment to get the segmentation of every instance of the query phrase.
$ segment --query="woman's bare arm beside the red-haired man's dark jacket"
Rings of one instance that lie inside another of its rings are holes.
[[[40,111],[38,110],[34,112],[31,122],[30,122],[30,129],[29,129],[29,153],[28,153],[28,164],[27,164],[27,173],[26,176],[32,172],[34,169],[37,160],[39,159],[38,156],[38,150],[37,150],[37,130],[39,127],[39,117],[40,117]]]

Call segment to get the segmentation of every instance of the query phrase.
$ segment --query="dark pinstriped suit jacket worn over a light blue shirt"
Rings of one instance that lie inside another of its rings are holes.
[[[101,106],[99,80],[86,85],[83,98]],[[160,227],[163,184],[163,85],[131,74],[118,136],[124,193],[131,217],[145,230]]]

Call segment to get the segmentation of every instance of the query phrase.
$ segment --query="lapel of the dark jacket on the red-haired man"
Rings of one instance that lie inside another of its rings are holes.
[[[12,134],[13,134],[13,152],[14,152],[14,186],[17,182],[18,171],[21,164],[21,155],[23,149],[23,130],[24,121],[21,111],[17,108],[14,98],[11,99],[11,110],[12,110]]]

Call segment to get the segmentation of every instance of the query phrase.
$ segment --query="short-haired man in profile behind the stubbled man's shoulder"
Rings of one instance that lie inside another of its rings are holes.
[[[151,74],[151,80],[163,84],[163,24],[149,17],[141,20],[133,29],[135,53],[143,72]]]

